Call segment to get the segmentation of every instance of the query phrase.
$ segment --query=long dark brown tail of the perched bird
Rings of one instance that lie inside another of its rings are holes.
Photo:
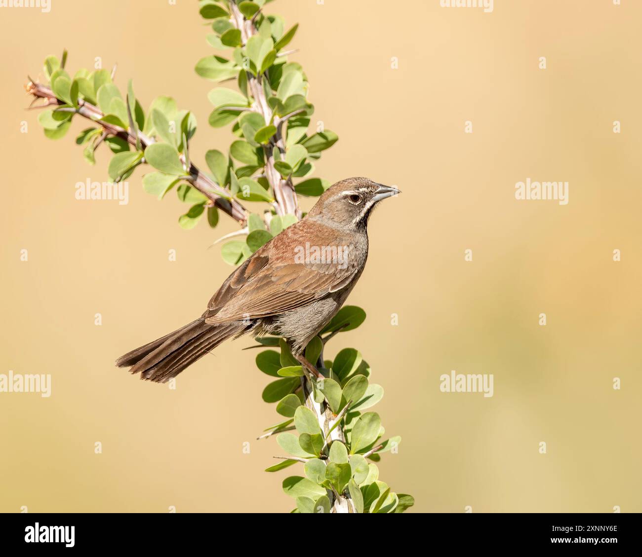
[[[164,383],[176,377],[225,339],[239,336],[246,329],[248,325],[243,321],[208,325],[204,318],[200,318],[132,352],[127,352],[125,356],[116,360],[116,365],[119,368],[131,366],[130,373],[141,373],[141,379]]]

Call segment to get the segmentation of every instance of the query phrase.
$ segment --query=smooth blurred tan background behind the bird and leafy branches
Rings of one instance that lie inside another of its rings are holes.
[[[349,299],[368,318],[327,355],[360,349],[385,388],[376,410],[403,442],[381,479],[411,493],[415,511],[642,511],[642,3],[622,4],[267,10],[300,23],[291,60],[308,74],[314,119],[340,137],[318,175],[403,191],[370,221],[369,264]],[[108,179],[107,151],[90,167],[73,141],[85,123],[49,141],[24,111],[26,75],[67,47],[72,72],[95,56],[117,63],[117,85],[132,77],[145,108],[160,94],[191,108],[197,164],[226,150],[229,129],[207,125],[214,84],[193,70],[213,52],[196,2],[52,0],[50,13],[0,8],[0,31],[0,373],[53,376],[50,398],[0,393],[0,511],[291,510],[281,481],[295,468],[263,472],[281,450],[256,441],[278,418],[261,400],[270,378],[257,352],[241,351],[251,339],[218,348],[175,391],[113,364],[202,313],[231,271],[207,246],[235,223],[182,230],[187,206],[144,193],[143,172],[128,205],[75,200],[76,182]],[[517,201],[528,177],[568,181],[568,205]],[[451,370],[493,373],[494,397],[440,392]]]

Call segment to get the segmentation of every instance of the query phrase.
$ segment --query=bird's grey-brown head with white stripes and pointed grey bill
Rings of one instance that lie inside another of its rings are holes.
[[[347,178],[329,187],[308,212],[308,218],[332,221],[349,230],[365,229],[379,201],[401,193],[368,178]]]

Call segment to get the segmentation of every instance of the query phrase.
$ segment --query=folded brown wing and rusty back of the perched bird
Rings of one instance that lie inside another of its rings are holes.
[[[216,325],[279,314],[339,290],[358,276],[360,264],[353,244],[348,244],[343,264],[298,262],[295,249],[301,237],[314,237],[324,245],[346,244],[336,230],[313,221],[286,228],[225,280],[207,305],[205,321]]]

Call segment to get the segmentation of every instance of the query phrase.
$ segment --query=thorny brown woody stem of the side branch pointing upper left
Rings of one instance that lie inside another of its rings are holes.
[[[46,85],[42,85],[42,83],[34,83],[33,81],[30,81],[27,84],[26,89],[28,94],[33,95],[35,98],[45,99],[47,101],[47,105],[65,104],[64,101],[56,98],[54,92],[49,89],[49,87],[47,87]],[[142,132],[138,132],[138,134],[136,135],[133,130],[126,130],[125,128],[121,128],[116,124],[111,124],[103,121],[102,119],[105,115],[103,114],[103,112],[101,112],[100,108],[94,107],[94,105],[91,105],[90,103],[87,103],[82,99],[78,99],[78,108],[74,108],[71,110],[73,110],[73,112],[76,112],[80,116],[102,126],[103,135],[107,134],[120,137],[121,139],[127,141],[130,145],[134,146],[134,148],[137,141],[139,141],[141,150],[143,151],[148,145],[154,142],[153,138],[147,137]],[[184,155],[180,155],[180,159],[183,164],[186,164]],[[200,191],[200,193],[204,194],[204,196],[206,196],[209,200],[211,200],[214,205],[216,205],[216,207],[228,214],[234,220],[238,221],[241,226],[245,226],[248,218],[248,212],[245,207],[243,207],[243,205],[241,205],[241,203],[239,203],[235,199],[229,198],[230,192],[227,189],[216,184],[216,182],[214,182],[212,178],[202,173],[202,171],[200,171],[194,164],[189,164],[189,176],[186,177],[186,181],[189,182],[189,184],[193,185],[193,187]]]

